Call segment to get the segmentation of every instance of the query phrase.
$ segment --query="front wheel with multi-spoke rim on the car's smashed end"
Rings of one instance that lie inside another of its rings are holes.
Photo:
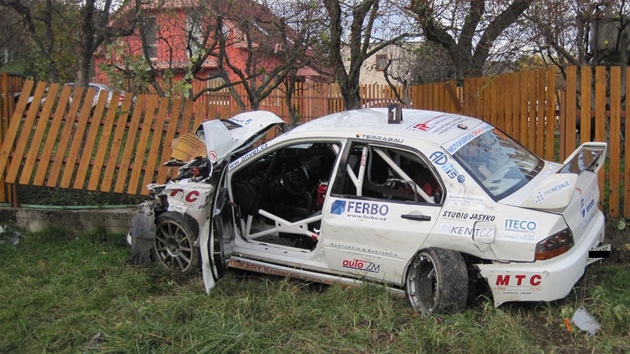
[[[181,274],[199,270],[199,227],[188,216],[165,212],[157,217],[153,256],[164,267]]]

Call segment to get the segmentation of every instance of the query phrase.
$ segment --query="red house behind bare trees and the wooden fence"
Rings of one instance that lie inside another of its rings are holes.
[[[139,14],[135,15],[136,13]],[[287,46],[295,45],[290,38],[287,38],[294,32],[286,26],[284,26],[284,31],[278,30],[282,27],[279,26],[282,24],[280,19],[268,8],[252,0],[223,2],[150,0],[145,2],[140,9],[131,6],[121,8],[117,21],[139,16],[146,29],[148,55],[153,68],[158,72],[158,81],[164,80],[164,75],[172,75],[173,81],[177,82],[186,75],[186,68],[191,63],[191,52],[193,52],[192,57],[195,57],[199,51],[216,44],[217,37],[213,36],[213,29],[217,26],[219,15],[223,21],[225,54],[230,64],[234,66],[234,68],[228,68],[228,65],[224,64],[231,81],[239,80],[234,70],[244,70],[248,60],[250,62],[253,60],[253,66],[258,70],[272,72],[281,60],[275,56],[275,53],[281,52],[283,48],[288,49],[285,48]],[[246,38],[249,38],[249,41]],[[106,50],[102,50],[96,57],[96,81],[107,80],[99,64],[107,63],[125,68],[129,65],[131,58],[137,58],[136,62],[141,62],[143,60],[141,43],[140,31],[136,30],[134,35],[123,37],[116,45],[115,51],[118,55],[107,56]],[[250,43],[249,48],[248,43]],[[248,57],[248,53],[252,52],[256,54]],[[301,60],[303,57],[302,55],[296,60]],[[210,78],[218,71],[218,59],[215,56],[208,56],[196,76]],[[301,77],[300,81],[322,81],[322,77],[309,67],[299,69],[297,75]]]

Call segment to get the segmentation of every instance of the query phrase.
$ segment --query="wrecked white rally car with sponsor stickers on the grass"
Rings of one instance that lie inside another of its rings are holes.
[[[550,301],[610,252],[598,208],[606,144],[544,161],[479,119],[398,106],[284,132],[269,112],[202,124],[202,155],[152,184],[129,241],[210,291],[227,268],[385,283],[423,315]],[[266,139],[274,131],[282,133]]]

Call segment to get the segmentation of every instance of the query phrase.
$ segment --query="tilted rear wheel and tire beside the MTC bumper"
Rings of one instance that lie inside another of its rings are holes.
[[[413,309],[425,317],[463,311],[468,299],[464,258],[441,248],[418,252],[407,270],[405,290]]]

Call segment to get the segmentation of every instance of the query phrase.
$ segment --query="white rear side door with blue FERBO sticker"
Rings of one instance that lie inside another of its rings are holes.
[[[351,141],[324,206],[328,267],[400,284],[435,225],[443,196],[444,184],[418,151]]]

